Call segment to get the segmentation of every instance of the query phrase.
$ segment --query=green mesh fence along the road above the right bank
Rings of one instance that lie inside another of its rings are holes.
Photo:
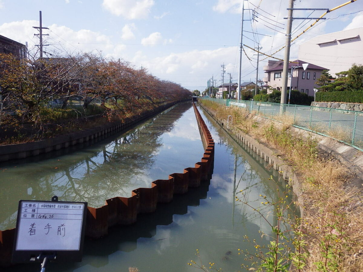
[[[330,137],[363,151],[363,112],[253,100],[199,99],[244,108],[250,113],[279,122],[288,121],[294,127]]]

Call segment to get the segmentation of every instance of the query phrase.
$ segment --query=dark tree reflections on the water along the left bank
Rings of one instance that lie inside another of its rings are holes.
[[[57,172],[54,169],[42,169],[43,165],[40,163],[30,170],[26,169],[26,173],[16,173],[19,177],[17,184],[22,186],[23,195],[14,192],[14,178],[9,175],[2,180],[2,189],[5,191],[2,190],[0,195],[12,195],[12,202],[15,202],[14,199],[16,202],[18,199],[29,198],[50,199],[53,195],[58,195],[62,201],[86,201],[93,207],[103,205],[107,198],[115,195],[129,196],[129,188],[152,167],[154,156],[163,145],[160,136],[172,131],[176,121],[190,107],[191,103],[180,104],[163,112],[150,122],[103,144],[97,151],[89,151],[81,160],[72,161],[77,157],[72,155],[64,165],[58,166]],[[20,169],[21,166],[17,170]],[[32,188],[31,195],[24,195],[29,187]],[[1,206],[5,204],[3,200],[0,203]],[[16,218],[9,217],[16,209],[17,205],[14,205],[12,211],[6,211],[5,217],[0,215],[1,229],[15,226]]]

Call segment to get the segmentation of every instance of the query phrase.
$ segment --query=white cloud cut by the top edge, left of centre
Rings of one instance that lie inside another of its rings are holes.
[[[103,7],[117,16],[127,19],[144,19],[148,16],[154,0],[103,0]]]

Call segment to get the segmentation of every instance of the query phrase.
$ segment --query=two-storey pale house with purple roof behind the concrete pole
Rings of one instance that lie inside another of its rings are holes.
[[[302,68],[303,63],[307,63],[307,68]],[[291,78],[291,68],[298,66],[293,70],[293,77]],[[284,68],[283,61],[271,61],[269,60],[268,65],[264,66],[265,77],[262,79],[266,85],[280,90],[282,88],[282,70]],[[314,96],[314,88],[318,87],[315,84],[320,78],[323,70],[329,70],[327,68],[301,61],[299,59],[289,63],[289,78],[287,79],[287,90],[299,90],[310,96]],[[269,91],[268,91],[269,92]],[[271,92],[271,91],[270,91]]]

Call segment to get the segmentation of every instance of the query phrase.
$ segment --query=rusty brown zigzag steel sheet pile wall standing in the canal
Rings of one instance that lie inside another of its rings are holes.
[[[183,173],[170,174],[167,180],[155,180],[150,188],[132,190],[131,197],[114,197],[106,199],[105,205],[88,207],[86,236],[101,238],[107,235],[108,228],[114,225],[135,223],[139,213],[151,213],[157,203],[173,200],[174,194],[184,194],[188,187],[199,187],[203,181],[211,178],[214,166],[214,141],[205,125],[195,103],[193,103],[204,154],[195,167],[185,168]],[[0,231],[0,266],[11,265],[11,254],[15,237],[15,228]]]

